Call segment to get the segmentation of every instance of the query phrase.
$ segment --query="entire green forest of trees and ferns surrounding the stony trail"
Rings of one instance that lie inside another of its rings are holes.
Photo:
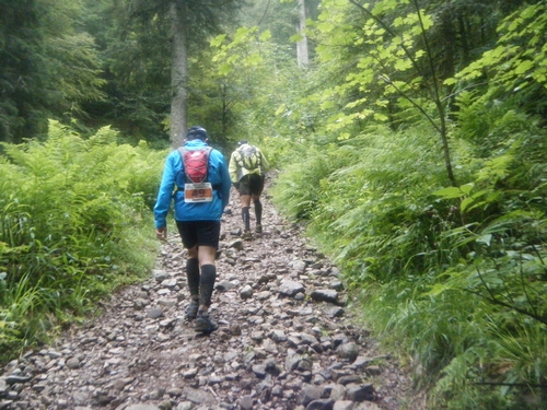
[[[0,363],[149,274],[194,125],[429,408],[547,409],[545,0],[0,0]]]

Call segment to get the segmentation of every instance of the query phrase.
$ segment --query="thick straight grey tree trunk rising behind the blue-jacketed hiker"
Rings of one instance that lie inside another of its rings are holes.
[[[172,61],[171,61],[171,130],[170,141],[173,149],[183,144],[187,129],[188,110],[188,49],[185,15],[178,1],[171,3],[172,15]]]

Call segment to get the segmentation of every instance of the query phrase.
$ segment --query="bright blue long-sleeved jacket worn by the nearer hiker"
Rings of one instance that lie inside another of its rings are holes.
[[[197,150],[207,147],[207,144],[201,140],[191,140],[187,141],[184,147],[188,150]],[[185,202],[182,190],[185,184],[183,159],[177,150],[171,152],[165,160],[162,183],[154,207],[155,227],[166,226],[165,219],[173,199],[175,200],[175,220],[177,221],[220,221],[230,200],[231,187],[226,160],[220,151],[211,150],[209,155],[208,181],[213,188],[211,202]],[[175,189],[177,187],[181,189]]]

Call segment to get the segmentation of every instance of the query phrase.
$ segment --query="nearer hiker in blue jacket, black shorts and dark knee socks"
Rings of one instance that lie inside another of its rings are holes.
[[[205,150],[207,142],[207,131],[201,127],[191,127],[187,131],[184,149]],[[190,168],[187,173],[190,173]],[[186,276],[190,303],[186,308],[186,317],[189,320],[196,319],[196,331],[202,333],[218,329],[218,325],[209,318],[208,311],[217,279],[216,255],[219,248],[220,221],[230,200],[230,187],[226,160],[220,151],[210,150],[206,183],[195,185],[188,183],[182,152],[175,150],[165,161],[154,207],[156,237],[166,241],[166,216],[174,199],[175,222],[183,245],[188,249]],[[199,198],[191,195],[196,191],[201,192]]]

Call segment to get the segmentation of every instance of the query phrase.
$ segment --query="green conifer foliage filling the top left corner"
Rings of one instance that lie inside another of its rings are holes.
[[[83,118],[82,105],[103,98],[105,81],[94,39],[80,28],[78,1],[2,2],[0,141],[47,131],[47,118]]]

